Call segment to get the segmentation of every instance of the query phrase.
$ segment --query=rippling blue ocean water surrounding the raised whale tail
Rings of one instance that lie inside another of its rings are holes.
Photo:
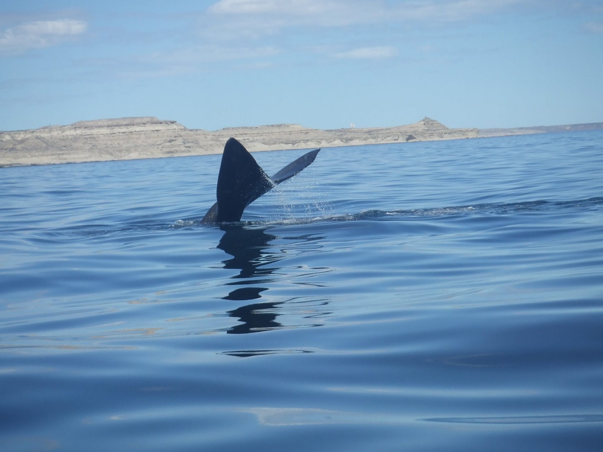
[[[603,450],[602,132],[219,159],[0,169],[0,450]]]

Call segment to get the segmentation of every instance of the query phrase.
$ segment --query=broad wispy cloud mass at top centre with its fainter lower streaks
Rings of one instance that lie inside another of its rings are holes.
[[[113,63],[109,66],[118,76],[142,78],[225,67],[295,64],[313,61],[317,55],[338,60],[387,60],[404,49],[391,34],[379,33],[379,27],[431,27],[529,1],[215,0],[197,14],[193,33],[183,33],[177,48],[164,46],[161,51],[119,55],[110,58]],[[342,37],[339,30],[346,27],[352,33]],[[328,28],[334,33],[324,33]]]

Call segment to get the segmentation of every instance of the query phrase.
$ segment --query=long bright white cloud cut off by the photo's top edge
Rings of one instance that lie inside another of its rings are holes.
[[[210,39],[260,39],[295,27],[459,22],[532,0],[219,0],[201,19]]]

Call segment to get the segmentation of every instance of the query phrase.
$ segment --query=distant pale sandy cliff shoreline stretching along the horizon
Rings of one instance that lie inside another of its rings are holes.
[[[206,131],[145,116],[0,132],[0,167],[221,154],[224,143],[231,136],[254,152],[601,129],[603,122],[453,129],[426,117],[414,124],[387,128],[320,130],[297,124],[277,124]]]

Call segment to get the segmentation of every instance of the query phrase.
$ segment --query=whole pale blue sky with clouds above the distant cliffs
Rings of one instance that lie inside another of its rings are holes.
[[[603,121],[603,0],[0,0],[0,130]]]

